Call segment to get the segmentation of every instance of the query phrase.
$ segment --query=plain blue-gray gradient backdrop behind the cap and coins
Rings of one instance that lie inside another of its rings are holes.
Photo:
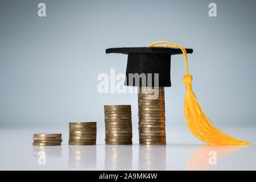
[[[47,17],[39,18],[45,2]],[[217,17],[208,16],[210,2]],[[222,129],[255,125],[256,1],[13,1],[0,2],[0,126],[68,126],[97,121],[103,105],[131,104],[136,94],[99,94],[97,75],[125,73],[126,55],[109,47],[170,41],[188,55],[193,90]],[[172,56],[166,88],[167,126],[186,126],[182,55]],[[222,126],[222,127],[221,127]]]

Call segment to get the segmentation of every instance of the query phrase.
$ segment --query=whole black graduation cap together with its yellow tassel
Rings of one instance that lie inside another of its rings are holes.
[[[164,45],[163,45],[164,44]],[[171,55],[183,53],[186,65],[186,75],[183,82],[187,90],[184,101],[184,115],[189,131],[197,138],[207,144],[217,145],[246,145],[249,142],[231,137],[229,134],[218,129],[205,115],[199,105],[195,94],[192,91],[192,76],[189,75],[187,53],[192,53],[193,49],[185,49],[178,44],[171,42],[156,42],[150,47],[130,47],[130,48],[109,48],[106,53],[125,53],[128,55],[126,79],[129,73],[159,73],[159,86],[171,86],[170,67]],[[148,78],[148,77],[147,77]],[[136,85],[134,81],[126,80],[126,85]],[[148,85],[146,85],[148,86]],[[152,84],[152,86],[154,86]]]

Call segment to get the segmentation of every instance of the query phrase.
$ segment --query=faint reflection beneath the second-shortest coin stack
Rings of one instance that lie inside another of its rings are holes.
[[[96,167],[96,146],[68,146],[69,168],[90,169]]]

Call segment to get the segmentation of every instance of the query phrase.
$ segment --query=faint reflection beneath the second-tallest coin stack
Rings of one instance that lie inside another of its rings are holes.
[[[131,145],[105,146],[105,170],[131,170],[132,161]]]

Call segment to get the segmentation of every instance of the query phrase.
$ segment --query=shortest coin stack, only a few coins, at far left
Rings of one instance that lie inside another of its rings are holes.
[[[60,133],[33,134],[33,146],[60,146],[62,139]]]

